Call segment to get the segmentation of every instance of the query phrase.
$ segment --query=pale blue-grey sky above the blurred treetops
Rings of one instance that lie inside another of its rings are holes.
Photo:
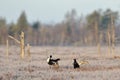
[[[0,0],[0,16],[6,18],[8,23],[16,22],[22,11],[26,12],[30,23],[36,20],[59,22],[73,8],[78,15],[107,8],[119,11],[120,0]]]

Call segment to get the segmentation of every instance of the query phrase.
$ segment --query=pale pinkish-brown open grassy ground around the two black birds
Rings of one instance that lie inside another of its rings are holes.
[[[115,54],[120,55],[116,47]],[[120,80],[120,57],[112,57],[102,47],[97,54],[96,47],[31,47],[31,57],[25,54],[21,60],[19,47],[0,47],[0,80]],[[59,68],[50,68],[46,62],[52,54],[60,58]],[[87,60],[89,64],[73,69],[73,59]]]

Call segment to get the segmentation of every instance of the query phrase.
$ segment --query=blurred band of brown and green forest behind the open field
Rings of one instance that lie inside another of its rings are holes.
[[[20,14],[16,23],[7,24],[6,19],[0,17],[0,44],[6,44],[8,35],[19,39],[23,31],[25,43],[35,46],[94,46],[98,39],[100,44],[105,46],[108,45],[107,32],[112,32],[112,26],[115,26],[115,44],[119,44],[118,11],[99,9],[86,16],[78,16],[77,11],[72,9],[64,16],[64,19],[56,24],[45,24],[37,20],[31,24],[27,21],[25,11]],[[16,44],[10,39],[9,42],[12,45]]]

